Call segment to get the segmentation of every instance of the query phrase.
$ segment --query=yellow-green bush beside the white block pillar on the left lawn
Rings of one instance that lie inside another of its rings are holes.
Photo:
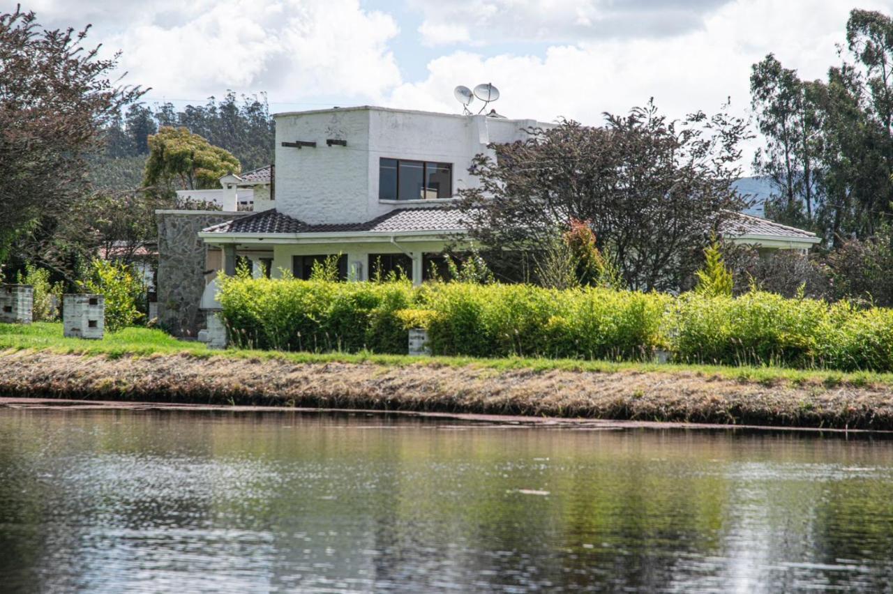
[[[138,303],[146,298],[146,286],[131,266],[122,262],[93,260],[84,288],[88,293],[105,297],[105,329],[109,332],[133,326],[144,318]]]

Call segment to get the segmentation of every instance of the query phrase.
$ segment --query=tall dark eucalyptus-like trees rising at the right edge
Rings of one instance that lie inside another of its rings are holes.
[[[779,190],[767,210],[830,246],[871,237],[893,215],[893,19],[850,12],[847,49],[853,61],[843,56],[825,81],[799,80],[772,54],[751,77],[766,138],[755,169]]]

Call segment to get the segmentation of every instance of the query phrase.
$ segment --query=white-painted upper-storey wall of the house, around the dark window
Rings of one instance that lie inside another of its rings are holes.
[[[379,201],[381,158],[448,162],[453,192],[475,184],[472,158],[490,142],[524,139],[535,120],[502,120],[376,107],[280,113],[276,118],[276,208],[308,223],[355,223],[408,205]],[[327,138],[346,146],[327,146]],[[312,141],[315,148],[283,147]]]

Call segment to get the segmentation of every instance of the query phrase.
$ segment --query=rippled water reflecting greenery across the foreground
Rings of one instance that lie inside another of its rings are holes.
[[[891,583],[877,437],[0,410],[4,591]]]

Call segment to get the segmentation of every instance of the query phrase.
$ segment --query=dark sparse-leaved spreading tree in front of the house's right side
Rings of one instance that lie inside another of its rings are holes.
[[[711,231],[744,206],[731,184],[747,126],[725,112],[667,120],[651,102],[605,119],[604,128],[563,121],[491,144],[496,158],[472,163],[480,185],[460,191],[464,219],[499,253],[542,252],[555,226],[588,221],[626,285],[677,288]]]

